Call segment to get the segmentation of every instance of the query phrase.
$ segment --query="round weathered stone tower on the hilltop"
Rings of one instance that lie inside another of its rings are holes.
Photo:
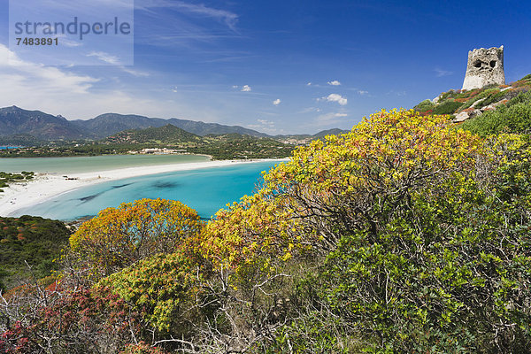
[[[468,52],[463,89],[481,89],[491,83],[505,83],[503,45],[500,48],[480,48]]]

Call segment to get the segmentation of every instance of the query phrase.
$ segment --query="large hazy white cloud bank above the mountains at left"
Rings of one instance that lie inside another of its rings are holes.
[[[109,68],[112,71],[112,66]],[[175,112],[192,112],[186,102],[129,94],[121,88],[110,88],[105,78],[70,70],[23,60],[0,44],[0,107],[17,105],[68,119],[89,119],[105,112],[168,118]]]

